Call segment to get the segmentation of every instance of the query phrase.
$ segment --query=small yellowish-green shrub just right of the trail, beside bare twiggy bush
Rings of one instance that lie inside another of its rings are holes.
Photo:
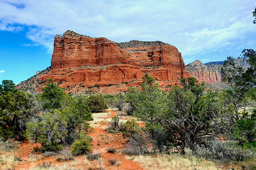
[[[132,136],[132,134],[139,132],[139,129],[140,129],[140,124],[138,122],[136,122],[135,119],[127,120],[124,123],[124,127],[123,127],[123,132],[122,132],[123,137],[130,138]]]

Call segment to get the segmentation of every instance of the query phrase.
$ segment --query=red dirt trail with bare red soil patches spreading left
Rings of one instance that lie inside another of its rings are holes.
[[[127,140],[122,137],[122,134],[110,134],[107,133],[106,130],[103,129],[103,127],[107,126],[108,118],[113,117],[116,112],[108,110],[108,112],[111,112],[111,115],[105,118],[105,123],[99,127],[94,128],[93,132],[90,134],[90,136],[93,138],[92,140],[92,145],[93,145],[93,153],[101,153],[102,159],[105,164],[105,169],[108,170],[133,170],[133,169],[144,169],[142,166],[140,166],[139,162],[135,162],[132,160],[126,160],[124,158],[124,154],[117,152],[117,153],[109,153],[106,151],[106,148],[108,147],[113,147],[116,148],[116,150],[120,150],[125,147],[127,144]],[[31,153],[34,147],[39,146],[40,144],[30,144],[29,141],[24,141],[20,144],[20,149],[18,152],[15,152],[13,155],[14,156],[21,156],[21,159],[23,161],[18,162],[15,166],[14,169],[16,170],[26,170],[29,169],[31,166],[37,166],[38,163],[43,163],[43,162],[52,162],[52,166],[55,165],[61,165],[63,163],[68,163],[69,161],[60,161],[58,162],[55,157],[49,156],[47,158],[43,159],[38,159],[34,162],[28,161],[28,155]],[[81,156],[76,156],[76,160],[82,160],[84,159]],[[108,159],[118,159],[120,165],[119,166],[110,166],[108,163]],[[93,166],[95,162],[89,161],[89,165],[84,165],[84,164],[79,164],[77,167],[78,169],[83,166],[83,169],[88,169],[87,167]],[[73,167],[73,168],[76,168]]]

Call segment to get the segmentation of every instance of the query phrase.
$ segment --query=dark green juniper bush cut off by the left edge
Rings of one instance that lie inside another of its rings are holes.
[[[9,88],[5,86],[3,96],[0,96],[0,137],[20,138],[26,130],[28,118],[34,114],[34,98],[29,93],[13,90],[12,85]]]

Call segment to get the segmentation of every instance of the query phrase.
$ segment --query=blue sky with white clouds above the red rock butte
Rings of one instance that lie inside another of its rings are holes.
[[[72,30],[116,42],[163,41],[185,64],[237,57],[256,46],[255,0],[0,0],[0,81],[20,83],[51,64],[53,40]]]

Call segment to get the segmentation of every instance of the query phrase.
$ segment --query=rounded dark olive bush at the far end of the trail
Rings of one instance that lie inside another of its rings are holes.
[[[92,112],[100,112],[108,108],[106,100],[102,95],[91,95],[85,99],[85,103]]]

